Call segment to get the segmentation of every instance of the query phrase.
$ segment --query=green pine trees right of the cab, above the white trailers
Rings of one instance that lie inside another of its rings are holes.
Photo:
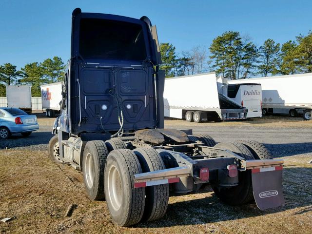
[[[160,53],[166,77],[213,71],[228,79],[311,73],[312,32],[284,44],[267,39],[257,47],[249,37],[228,31],[216,37],[209,47],[196,46],[178,54],[173,44],[161,43]]]

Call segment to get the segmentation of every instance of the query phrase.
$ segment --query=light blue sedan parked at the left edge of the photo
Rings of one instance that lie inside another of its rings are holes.
[[[36,116],[28,115],[18,108],[0,108],[0,139],[7,139],[15,133],[28,137],[31,132],[38,129]]]

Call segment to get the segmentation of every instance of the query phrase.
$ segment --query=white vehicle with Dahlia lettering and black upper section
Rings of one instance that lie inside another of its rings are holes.
[[[228,84],[228,97],[248,109],[247,118],[262,117],[261,84]]]

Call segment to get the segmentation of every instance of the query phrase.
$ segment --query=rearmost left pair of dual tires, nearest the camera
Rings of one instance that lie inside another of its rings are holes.
[[[107,157],[104,190],[108,210],[118,226],[161,218],[167,211],[169,185],[134,188],[134,175],[165,169],[152,148],[114,150]]]

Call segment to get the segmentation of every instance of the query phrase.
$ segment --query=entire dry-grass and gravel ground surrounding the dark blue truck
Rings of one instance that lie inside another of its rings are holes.
[[[228,206],[209,186],[198,193],[171,196],[166,215],[157,221],[121,228],[113,224],[106,203],[90,201],[82,173],[52,163],[47,144],[54,119],[39,116],[39,131],[0,140],[0,233],[303,233],[312,230],[312,121],[271,118],[244,122],[186,123],[166,120],[166,128],[193,129],[216,141],[255,139],[274,157],[285,160],[283,193],[286,204],[260,211],[254,203]],[[295,120],[295,121],[294,121]],[[34,163],[36,162],[36,163]],[[76,209],[65,217],[70,204]]]

